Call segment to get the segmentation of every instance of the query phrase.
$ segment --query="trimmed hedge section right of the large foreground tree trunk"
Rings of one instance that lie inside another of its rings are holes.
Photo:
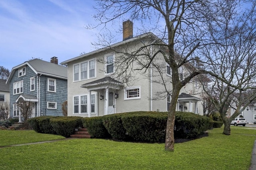
[[[190,112],[175,113],[174,137],[195,138],[202,135],[211,126],[211,119]]]

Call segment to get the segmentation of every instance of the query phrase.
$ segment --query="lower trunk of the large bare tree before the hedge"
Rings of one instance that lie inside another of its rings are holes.
[[[170,108],[168,110],[168,118],[166,125],[166,138],[165,138],[165,150],[174,151],[174,122],[175,122],[175,111],[180,90],[174,88],[172,93],[172,99]]]

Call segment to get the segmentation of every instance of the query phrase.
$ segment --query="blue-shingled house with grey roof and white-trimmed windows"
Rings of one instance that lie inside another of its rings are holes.
[[[62,103],[67,100],[67,68],[58,65],[58,58],[50,62],[32,59],[12,68],[6,82],[10,84],[10,117],[21,114],[17,102],[31,102],[32,117],[62,116]]]

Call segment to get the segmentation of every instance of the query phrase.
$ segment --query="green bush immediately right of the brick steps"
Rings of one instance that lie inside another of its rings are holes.
[[[102,117],[86,117],[83,119],[84,127],[88,133],[94,138],[109,138],[111,135],[102,123]]]

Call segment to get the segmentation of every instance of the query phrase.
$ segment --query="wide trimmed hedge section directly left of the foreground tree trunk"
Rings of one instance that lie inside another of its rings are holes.
[[[122,116],[123,126],[134,141],[164,143],[167,114],[161,112],[133,112]]]

